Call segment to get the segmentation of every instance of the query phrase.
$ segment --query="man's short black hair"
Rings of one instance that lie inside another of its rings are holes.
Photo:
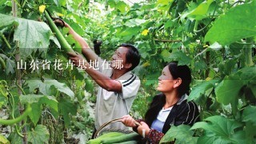
[[[138,49],[135,46],[131,44],[126,44],[126,43],[122,43],[120,46],[123,46],[129,49],[126,54],[126,62],[132,64],[129,70],[134,70],[134,68],[138,66],[139,61],[141,59],[141,55],[138,53]]]

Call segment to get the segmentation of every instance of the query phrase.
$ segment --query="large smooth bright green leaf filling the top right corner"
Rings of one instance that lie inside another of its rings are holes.
[[[205,42],[229,45],[241,38],[256,35],[256,1],[231,8],[223,14],[207,32]]]

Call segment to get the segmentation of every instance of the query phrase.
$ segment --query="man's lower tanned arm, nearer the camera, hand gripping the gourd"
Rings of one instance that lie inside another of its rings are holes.
[[[91,78],[94,79],[94,81],[101,86],[103,89],[108,91],[115,91],[118,93],[122,92],[122,84],[114,79],[111,79],[107,77],[105,74],[102,74],[98,70],[94,70],[93,68],[89,68],[90,64],[82,58],[82,55],[79,54],[73,54],[68,53],[70,55],[70,60],[73,61],[75,66],[81,66],[81,63],[83,64],[84,69],[86,70],[86,73],[90,75]],[[79,61],[81,63],[79,63]]]

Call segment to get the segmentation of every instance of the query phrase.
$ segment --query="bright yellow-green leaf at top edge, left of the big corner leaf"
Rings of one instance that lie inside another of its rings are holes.
[[[194,18],[196,20],[201,20],[202,18],[208,17],[206,14],[212,2],[214,2],[214,0],[207,0],[202,2],[197,8],[190,11],[190,13],[187,14],[186,16],[188,18]]]

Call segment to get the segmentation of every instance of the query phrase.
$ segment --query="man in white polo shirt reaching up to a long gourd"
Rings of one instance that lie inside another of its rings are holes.
[[[109,68],[108,62],[103,61],[90,49],[86,41],[78,35],[67,23],[69,34],[82,46],[82,54],[88,62],[98,62],[98,70],[89,68],[79,54],[68,53],[75,66],[85,69],[86,73],[99,85],[95,108],[95,128],[98,130],[105,122],[115,118],[122,118],[129,113],[134,98],[138,93],[140,80],[130,70],[134,70],[140,61],[138,50],[130,44],[122,44],[115,50]],[[119,66],[116,64],[119,63]],[[126,129],[122,122],[116,122],[110,127]]]

